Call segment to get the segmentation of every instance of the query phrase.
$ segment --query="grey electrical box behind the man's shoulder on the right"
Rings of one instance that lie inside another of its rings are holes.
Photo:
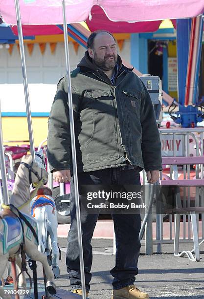
[[[160,127],[162,121],[162,87],[158,76],[143,75],[139,77],[146,86],[155,110],[155,116]]]

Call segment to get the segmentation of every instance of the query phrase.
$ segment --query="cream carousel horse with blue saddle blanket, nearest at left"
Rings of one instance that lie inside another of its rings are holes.
[[[43,264],[47,278],[46,288],[52,295],[56,294],[54,275],[49,268],[47,257],[38,250],[37,222],[30,215],[29,206],[30,184],[36,185],[46,182],[47,172],[41,169],[37,163],[32,162],[32,156],[23,157],[10,197],[10,209],[9,206],[2,205],[4,210],[0,214],[0,277],[6,269],[8,259],[13,257],[16,258],[17,268],[21,272],[22,258],[20,253],[23,253],[23,257],[25,252],[30,259],[40,261]],[[24,271],[20,275],[19,286],[26,287]],[[0,288],[0,297],[9,298],[4,294],[2,288]]]

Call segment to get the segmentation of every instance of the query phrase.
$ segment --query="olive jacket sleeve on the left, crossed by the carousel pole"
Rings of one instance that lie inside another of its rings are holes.
[[[78,116],[79,96],[72,87],[74,120]],[[50,171],[70,169],[71,136],[69,124],[67,79],[58,84],[48,119],[47,156]]]

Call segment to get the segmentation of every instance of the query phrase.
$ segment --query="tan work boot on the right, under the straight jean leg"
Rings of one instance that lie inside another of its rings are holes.
[[[119,290],[113,290],[112,299],[148,299],[147,293],[141,292],[134,284]]]

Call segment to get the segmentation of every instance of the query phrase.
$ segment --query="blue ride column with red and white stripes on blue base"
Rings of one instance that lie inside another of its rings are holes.
[[[172,116],[181,127],[196,127],[204,120],[198,111],[198,77],[202,51],[203,16],[177,20],[179,111]]]

